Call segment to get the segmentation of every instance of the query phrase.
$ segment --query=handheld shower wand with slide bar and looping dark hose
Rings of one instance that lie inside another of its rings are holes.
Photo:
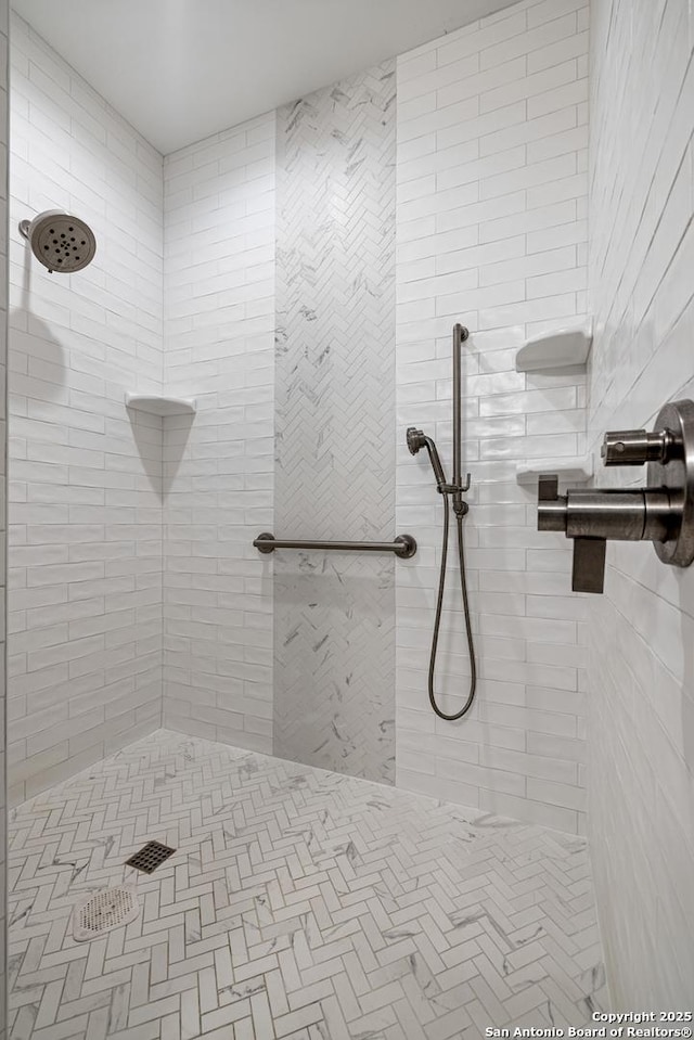
[[[444,543],[441,547],[441,569],[439,573],[438,595],[436,600],[436,617],[434,620],[434,633],[432,638],[432,652],[429,655],[428,691],[432,708],[438,715],[439,719],[448,722],[461,719],[470,711],[475,697],[477,685],[477,667],[475,663],[475,647],[473,643],[473,630],[470,619],[470,603],[467,600],[467,581],[465,577],[465,551],[463,540],[463,517],[468,510],[467,502],[463,501],[463,492],[470,489],[470,473],[465,484],[463,484],[460,462],[460,440],[461,440],[461,349],[462,344],[470,333],[463,325],[453,326],[453,483],[448,484],[446,472],[441,464],[436,445],[430,437],[427,437],[423,431],[415,426],[410,426],[407,433],[408,448],[410,453],[415,455],[422,448],[426,448],[436,477],[436,487],[439,495],[444,496]],[[453,512],[458,524],[458,567],[460,573],[460,585],[463,598],[463,612],[465,615],[465,632],[467,635],[467,650],[470,654],[470,690],[467,699],[460,711],[453,715],[446,715],[436,703],[434,692],[434,678],[436,670],[436,655],[438,652],[438,638],[441,628],[441,612],[444,609],[444,591],[446,588],[446,565],[448,561],[448,536],[450,526],[450,501],[452,501]]]

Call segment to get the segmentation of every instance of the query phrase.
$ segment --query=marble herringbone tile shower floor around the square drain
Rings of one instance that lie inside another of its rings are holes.
[[[10,830],[13,1040],[476,1040],[605,1001],[579,838],[167,731]],[[139,917],[75,942],[150,838]]]

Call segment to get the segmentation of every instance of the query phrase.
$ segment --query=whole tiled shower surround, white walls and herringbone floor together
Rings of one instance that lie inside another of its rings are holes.
[[[694,570],[613,543],[605,595],[571,593],[516,471],[694,397],[693,39],[683,0],[522,0],[162,156],[12,15],[11,1037],[691,1010]],[[15,231],[61,205],[99,243],[68,280]],[[516,372],[586,314],[588,371]],[[479,688],[447,723],[404,431],[450,466],[455,321]],[[141,917],[80,947],[73,904],[152,837],[178,851]]]

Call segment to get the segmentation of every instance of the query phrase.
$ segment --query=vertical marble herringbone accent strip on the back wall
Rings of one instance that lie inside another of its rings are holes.
[[[275,534],[395,536],[395,61],[278,112]],[[395,560],[279,552],[274,753],[395,780]]]

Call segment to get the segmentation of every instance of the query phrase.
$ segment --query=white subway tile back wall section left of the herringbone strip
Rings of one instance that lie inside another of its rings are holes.
[[[164,719],[272,750],[275,115],[165,159]]]

